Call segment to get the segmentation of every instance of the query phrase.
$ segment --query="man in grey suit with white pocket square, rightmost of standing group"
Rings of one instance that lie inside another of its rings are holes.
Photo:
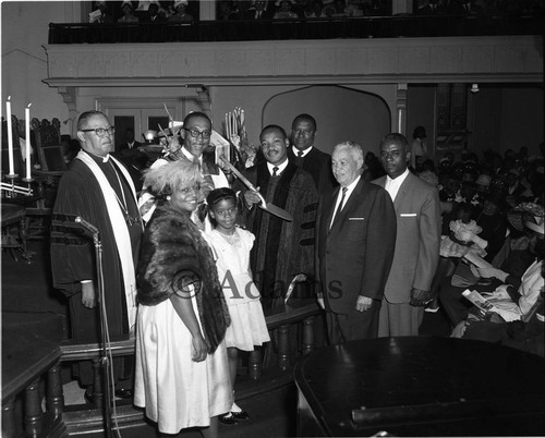
[[[437,190],[412,174],[410,146],[401,134],[380,142],[386,177],[373,181],[393,200],[396,253],[380,308],[379,337],[417,336],[439,261],[440,207]]]

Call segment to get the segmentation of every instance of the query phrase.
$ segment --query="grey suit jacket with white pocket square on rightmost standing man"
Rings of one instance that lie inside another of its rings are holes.
[[[386,177],[373,183],[384,187]],[[439,263],[440,205],[435,187],[412,173],[393,200],[398,234],[385,296],[390,303],[409,303],[411,289],[428,291]]]

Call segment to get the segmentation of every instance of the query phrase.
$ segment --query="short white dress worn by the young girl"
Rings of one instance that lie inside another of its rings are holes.
[[[216,265],[219,282],[231,315],[226,345],[253,351],[254,345],[262,345],[270,340],[259,291],[250,275],[250,251],[255,236],[240,228],[229,236],[217,230],[206,234],[218,256]]]

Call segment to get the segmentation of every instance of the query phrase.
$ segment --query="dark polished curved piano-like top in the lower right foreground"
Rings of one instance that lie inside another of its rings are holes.
[[[545,435],[545,361],[451,338],[315,350],[294,369],[300,436]]]

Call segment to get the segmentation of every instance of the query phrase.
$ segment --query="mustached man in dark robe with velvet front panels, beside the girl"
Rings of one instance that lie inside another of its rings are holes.
[[[246,204],[243,217],[255,234],[251,253],[254,281],[265,308],[283,304],[290,282],[299,273],[311,283],[314,273],[314,221],[318,194],[312,175],[288,160],[289,139],[278,125],[266,126],[261,135],[265,161],[245,169],[246,177],[267,203],[283,208],[293,221],[283,220],[262,208],[259,196],[237,181]]]

